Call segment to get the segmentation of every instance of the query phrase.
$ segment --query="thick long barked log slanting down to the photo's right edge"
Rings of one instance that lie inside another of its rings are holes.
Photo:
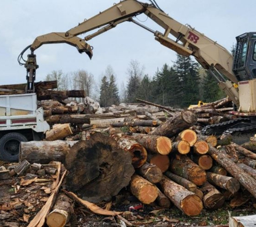
[[[256,197],[256,180],[248,175],[243,169],[239,168],[232,162],[227,155],[210,146],[209,151],[211,157],[222,165],[234,178],[236,178],[241,185],[243,185],[254,197]]]

